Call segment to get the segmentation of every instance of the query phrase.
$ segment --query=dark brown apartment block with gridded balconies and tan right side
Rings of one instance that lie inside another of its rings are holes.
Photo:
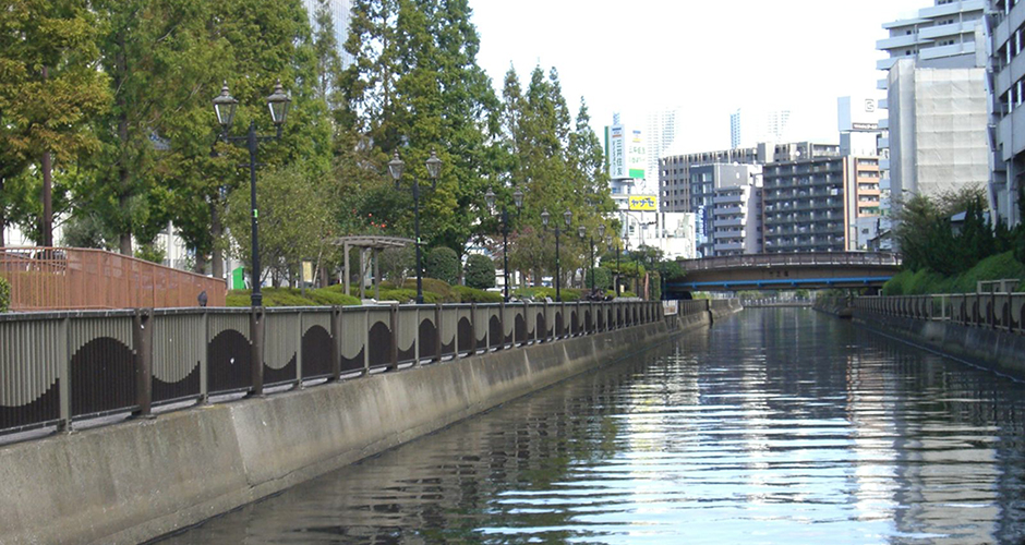
[[[879,158],[821,156],[764,168],[764,251],[857,250],[858,218],[879,211]]]

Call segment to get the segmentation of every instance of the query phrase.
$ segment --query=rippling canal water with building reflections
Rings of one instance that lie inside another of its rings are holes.
[[[748,310],[164,543],[1018,544],[1023,425],[1022,384]]]

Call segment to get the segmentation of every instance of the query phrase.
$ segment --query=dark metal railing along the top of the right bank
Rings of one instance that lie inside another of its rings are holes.
[[[1025,293],[867,296],[855,299],[853,307],[885,316],[1025,334]]]

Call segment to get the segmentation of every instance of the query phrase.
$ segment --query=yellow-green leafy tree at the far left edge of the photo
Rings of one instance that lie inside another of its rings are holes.
[[[98,22],[88,2],[7,0],[0,4],[0,28],[2,246],[12,217],[41,216],[41,162],[53,160],[46,170],[61,170],[98,148],[85,125],[106,108],[109,96],[96,70]]]

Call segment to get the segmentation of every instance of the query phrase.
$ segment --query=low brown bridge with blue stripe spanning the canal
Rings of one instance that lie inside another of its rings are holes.
[[[900,270],[891,253],[819,252],[750,254],[679,262],[683,282],[666,287],[672,296],[689,291],[881,288]]]

